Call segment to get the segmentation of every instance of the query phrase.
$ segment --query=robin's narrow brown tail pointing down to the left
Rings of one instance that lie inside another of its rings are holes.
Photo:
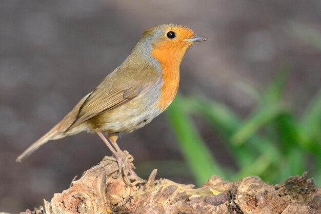
[[[19,157],[15,160],[16,162],[22,162],[26,159],[30,154],[32,154],[39,147],[47,143],[49,140],[52,140],[58,134],[57,127],[54,126],[50,131],[48,131],[43,137],[34,142],[31,146],[29,146]],[[55,138],[56,139],[56,138]]]

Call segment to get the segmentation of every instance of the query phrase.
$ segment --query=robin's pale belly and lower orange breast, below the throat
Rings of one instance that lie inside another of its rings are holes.
[[[159,80],[144,94],[103,113],[99,117],[101,131],[132,131],[150,123],[175,98],[179,84],[179,70],[162,72]]]

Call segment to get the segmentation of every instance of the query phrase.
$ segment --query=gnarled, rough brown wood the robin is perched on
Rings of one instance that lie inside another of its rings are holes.
[[[134,166],[128,152],[122,157],[128,170]],[[117,174],[118,165],[106,157],[85,171],[51,202],[22,213],[321,213],[321,188],[302,176],[290,177],[284,183],[269,185],[251,176],[236,182],[212,176],[202,187],[177,184],[167,179],[155,180],[156,170],[148,181],[126,185]]]

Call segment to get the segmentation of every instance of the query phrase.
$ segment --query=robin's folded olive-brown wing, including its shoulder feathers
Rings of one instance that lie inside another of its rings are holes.
[[[140,75],[129,76],[127,69],[135,69],[135,73],[139,73]],[[137,68],[132,69],[126,67],[126,70],[124,70],[123,67],[118,67],[114,72],[109,74],[79,108],[77,119],[66,132],[105,111],[127,103],[137,96],[142,95],[159,79],[156,68],[150,65],[140,66],[139,70],[137,70]],[[153,74],[153,78],[149,77],[151,74]],[[128,79],[127,81],[124,81],[126,84],[118,84],[117,81],[111,82],[110,79],[115,75],[117,75],[117,80],[118,78],[123,80]],[[142,75],[147,76],[148,78],[142,78]]]

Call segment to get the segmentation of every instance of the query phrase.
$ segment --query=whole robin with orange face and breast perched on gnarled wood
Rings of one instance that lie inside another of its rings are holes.
[[[150,123],[173,101],[179,84],[179,65],[188,47],[208,40],[188,27],[163,24],[147,29],[123,62],[87,94],[42,138],[16,159],[22,162],[49,140],[81,131],[96,132],[118,162],[126,167],[118,152],[119,132],[130,132]],[[108,139],[102,132],[108,133]],[[128,178],[127,178],[127,181]]]

